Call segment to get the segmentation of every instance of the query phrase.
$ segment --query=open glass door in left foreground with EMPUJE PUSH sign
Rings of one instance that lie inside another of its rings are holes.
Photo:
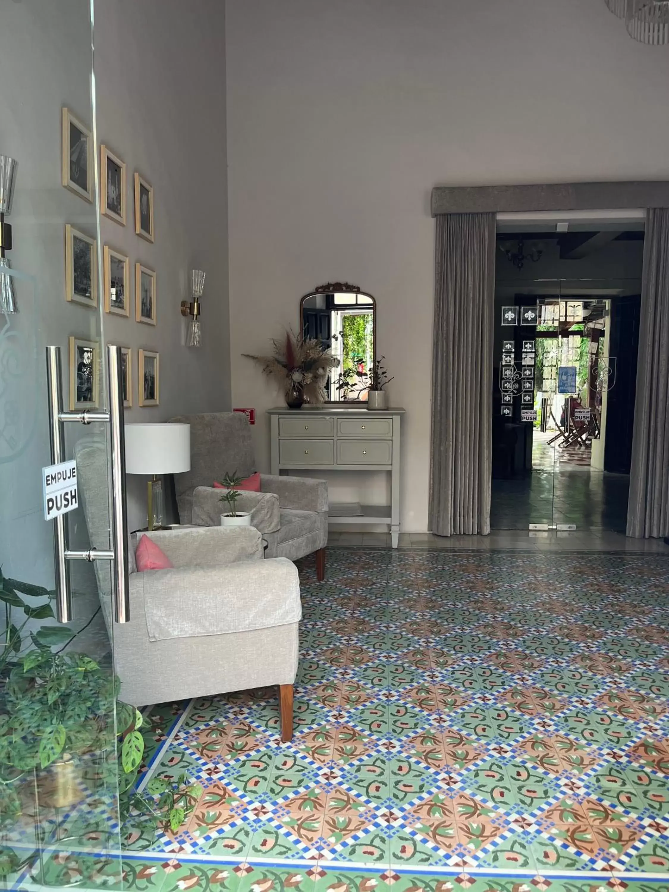
[[[103,335],[91,37],[90,0],[0,0],[2,888],[121,882],[117,741],[136,711],[117,703],[112,657],[122,402]]]

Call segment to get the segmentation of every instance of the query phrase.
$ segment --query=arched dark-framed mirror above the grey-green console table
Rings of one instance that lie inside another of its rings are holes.
[[[339,359],[326,382],[327,402],[366,401],[376,360],[376,301],[348,282],[328,282],[300,301],[300,334]]]

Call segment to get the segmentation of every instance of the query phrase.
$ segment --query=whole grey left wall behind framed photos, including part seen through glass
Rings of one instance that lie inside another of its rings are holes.
[[[100,318],[64,293],[65,223],[95,235],[95,205],[61,186],[61,107],[88,125],[89,0],[0,0],[0,153],[19,161],[12,266],[20,312],[0,316],[0,565],[4,574],[53,586],[52,525],[42,516],[41,471],[49,464],[45,345],[60,344],[67,392],[69,335],[100,337]],[[128,225],[104,220],[103,241],[157,270],[158,325],[105,316],[104,340],[161,353],[161,406],[128,420],[230,404],[227,326],[227,195],[224,11],[216,0],[102,0],[95,4],[98,135],[128,164]],[[132,174],[153,184],[155,244],[134,234]],[[182,346],[178,304],[192,267],[207,272],[204,346]],[[131,277],[134,285],[134,275]],[[73,436],[90,431],[68,430]],[[71,453],[70,453],[71,454]],[[145,520],[145,491],[133,481],[132,528]],[[72,543],[85,541],[80,512]],[[90,590],[89,566],[73,567]],[[78,620],[90,602],[76,606]]]

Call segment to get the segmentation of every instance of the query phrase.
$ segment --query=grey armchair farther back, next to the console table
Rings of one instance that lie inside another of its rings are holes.
[[[184,415],[171,419],[191,425],[191,469],[175,475],[182,524],[219,524],[223,508],[213,488],[226,474],[256,470],[251,428],[241,412]],[[296,560],[316,553],[318,581],[325,578],[327,483],[310,477],[261,474],[261,492],[244,492],[239,507],[252,512],[252,524],[268,543],[266,558]],[[269,495],[273,499],[268,499]]]

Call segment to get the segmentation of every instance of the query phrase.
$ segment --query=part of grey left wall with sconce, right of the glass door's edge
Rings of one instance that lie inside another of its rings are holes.
[[[157,326],[105,315],[104,335],[133,351],[128,422],[230,408],[227,303],[225,10],[218,0],[97,0],[97,135],[128,165],[128,225],[102,218],[103,244],[157,272]],[[153,186],[155,242],[135,235],[133,174]],[[202,349],[179,313],[193,268],[206,272]],[[137,405],[139,348],[161,355],[161,405]],[[128,477],[131,529],[145,525],[145,482]]]

